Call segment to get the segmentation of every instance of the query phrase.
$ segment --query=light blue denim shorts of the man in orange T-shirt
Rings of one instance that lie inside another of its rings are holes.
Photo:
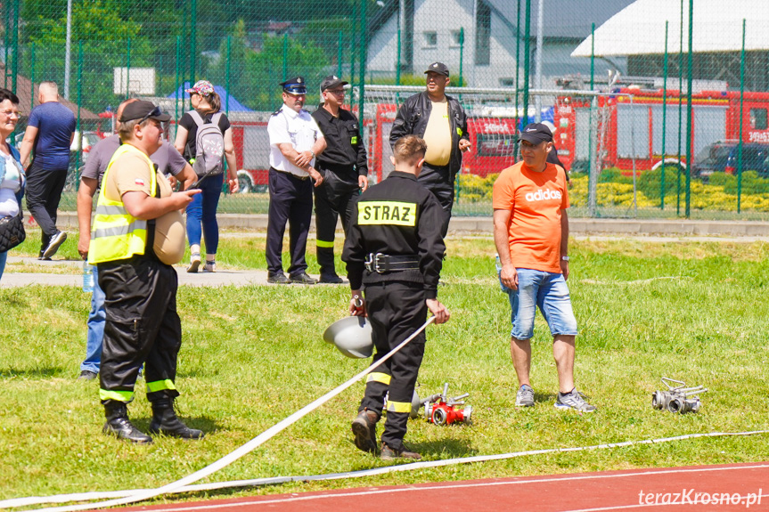
[[[577,336],[577,319],[571,309],[569,287],[563,274],[517,268],[518,290],[502,289],[510,298],[511,337],[529,339],[534,336],[536,306],[550,327],[552,336]]]

